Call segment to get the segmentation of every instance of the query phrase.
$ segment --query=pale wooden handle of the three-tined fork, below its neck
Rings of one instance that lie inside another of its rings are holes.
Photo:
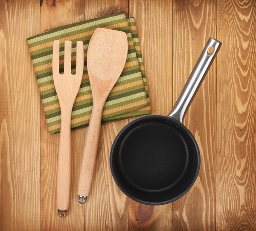
[[[57,168],[57,208],[60,217],[65,217],[70,202],[71,181],[71,112],[61,111],[61,134]]]

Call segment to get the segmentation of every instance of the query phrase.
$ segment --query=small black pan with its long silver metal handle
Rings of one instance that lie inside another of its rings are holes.
[[[195,183],[199,148],[182,121],[221,44],[209,38],[168,116],[141,117],[116,136],[110,154],[111,173],[131,199],[146,205],[167,204],[182,197]]]

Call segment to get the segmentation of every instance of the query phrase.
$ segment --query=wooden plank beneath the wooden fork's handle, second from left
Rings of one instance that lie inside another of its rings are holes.
[[[84,20],[82,0],[43,1],[40,31]],[[77,202],[77,187],[84,147],[84,129],[71,131],[71,196],[67,217],[60,218],[56,204],[59,134],[50,135],[41,103],[41,228],[42,230],[84,230],[84,209]]]

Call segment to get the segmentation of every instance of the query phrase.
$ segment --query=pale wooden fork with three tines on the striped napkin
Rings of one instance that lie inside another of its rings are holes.
[[[84,70],[84,45],[76,42],[76,74],[71,74],[71,41],[65,41],[64,74],[59,74],[60,42],[55,40],[52,53],[52,76],[61,107],[61,134],[58,150],[57,208],[58,215],[65,217],[70,201],[71,178],[71,112],[81,85]]]

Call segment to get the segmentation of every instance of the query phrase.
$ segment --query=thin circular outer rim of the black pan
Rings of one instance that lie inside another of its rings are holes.
[[[149,201],[145,201],[145,200],[140,200],[140,199],[137,199],[136,197],[134,197],[133,195],[131,195],[130,193],[127,193],[125,191],[125,189],[119,184],[119,180],[117,180],[117,177],[116,177],[116,173],[113,171],[113,150],[116,146],[116,143],[118,143],[118,140],[119,140],[119,137],[121,137],[121,135],[125,132],[125,130],[127,130],[130,126],[132,126],[134,123],[139,123],[140,121],[142,120],[148,120],[150,118],[152,119],[157,119],[157,120],[169,120],[171,121],[172,123],[174,124],[177,124],[179,125],[183,130],[185,130],[187,132],[187,134],[191,137],[191,140],[193,142],[193,144],[195,145],[195,149],[197,151],[197,154],[198,154],[198,166],[197,166],[197,169],[196,169],[196,172],[195,172],[195,176],[193,178],[193,180],[190,182],[190,184],[186,187],[186,190],[184,190],[181,194],[177,195],[177,197],[174,197],[174,198],[170,198],[169,200],[165,200],[165,201],[161,201],[161,202],[149,202]],[[189,129],[183,125],[182,123],[180,123],[179,121],[171,118],[171,117],[167,117],[167,116],[162,116],[162,115],[147,115],[147,116],[144,116],[144,117],[140,117],[134,121],[132,121],[131,123],[128,123],[127,125],[125,125],[125,127],[123,127],[121,129],[121,131],[119,131],[119,133],[117,134],[115,140],[113,141],[113,144],[111,146],[111,152],[110,152],[110,168],[111,168],[111,174],[112,174],[112,177],[116,183],[116,185],[118,186],[118,188],[129,198],[131,198],[132,200],[134,201],[137,201],[139,203],[143,203],[145,205],[165,205],[165,204],[169,204],[171,202],[174,202],[175,200],[178,200],[180,199],[180,197],[183,197],[191,188],[192,186],[194,185],[197,177],[198,177],[198,174],[199,174],[199,170],[200,170],[200,165],[201,165],[201,155],[200,155],[200,151],[199,151],[199,148],[198,148],[198,144],[195,140],[195,137],[192,135],[192,133],[189,131]]]

